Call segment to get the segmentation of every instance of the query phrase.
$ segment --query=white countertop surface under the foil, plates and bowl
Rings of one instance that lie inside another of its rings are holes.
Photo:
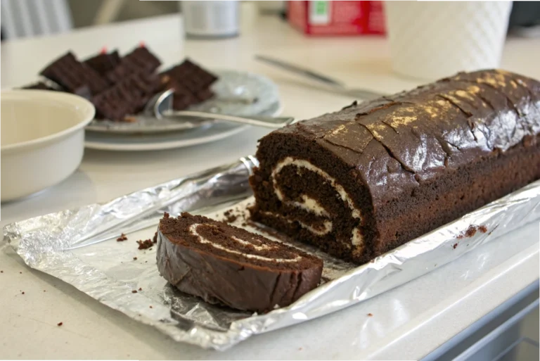
[[[257,23],[257,27],[253,27]],[[355,86],[392,93],[418,85],[390,70],[383,37],[306,38],[277,18],[243,20],[236,39],[184,41],[178,15],[0,44],[0,87],[35,80],[39,70],[72,49],[84,57],[103,46],[121,51],[144,41],[165,63],[184,56],[209,68],[236,68],[271,77],[285,115],[309,118],[354,99],[328,94],[309,81],[256,63],[255,53],[309,65]],[[503,68],[540,78],[540,39],[509,39]],[[206,146],[147,153],[86,151],[62,184],[0,205],[9,222],[110,198],[255,152],[266,129]],[[137,360],[418,360],[540,277],[540,244],[532,224],[425,277],[328,317],[255,336],[226,351],[200,350],[110,310],[83,293],[34,272],[13,252],[0,252],[0,357],[6,359]],[[511,241],[508,241],[511,239]],[[25,292],[23,295],[22,292]],[[373,317],[367,317],[372,313]],[[58,322],[63,322],[58,327]],[[368,336],[369,337],[368,337]]]

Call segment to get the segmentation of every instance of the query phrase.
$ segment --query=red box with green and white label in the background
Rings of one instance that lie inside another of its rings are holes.
[[[304,34],[385,34],[383,0],[288,1],[289,23]]]

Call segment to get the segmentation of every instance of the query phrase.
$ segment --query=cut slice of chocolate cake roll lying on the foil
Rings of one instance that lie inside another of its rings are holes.
[[[323,260],[224,222],[167,213],[158,269],[180,291],[239,310],[290,305],[321,281]]]

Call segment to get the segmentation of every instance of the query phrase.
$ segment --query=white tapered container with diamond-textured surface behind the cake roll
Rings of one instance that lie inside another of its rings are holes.
[[[435,80],[499,67],[511,8],[510,0],[386,0],[392,68]]]

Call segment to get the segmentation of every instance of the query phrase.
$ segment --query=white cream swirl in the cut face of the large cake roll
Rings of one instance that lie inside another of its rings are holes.
[[[330,176],[327,172],[324,170],[321,170],[321,168],[317,167],[316,165],[311,164],[309,161],[304,159],[295,159],[293,157],[287,157],[280,162],[276,164],[274,169],[272,170],[271,177],[272,177],[272,185],[274,186],[274,193],[276,194],[277,198],[289,205],[293,205],[297,208],[301,208],[303,210],[307,210],[309,213],[313,213],[314,215],[317,215],[319,217],[330,217],[330,214],[324,207],[314,198],[311,198],[307,196],[306,194],[302,194],[302,202],[300,201],[287,201],[285,200],[285,195],[283,194],[283,191],[281,191],[279,184],[276,180],[276,176],[278,175],[281,170],[283,170],[283,167],[286,167],[288,165],[294,165],[295,167],[302,167],[310,172],[314,172],[317,175],[321,176],[323,179],[326,179],[326,182],[330,184],[330,186],[335,189],[336,193],[339,194],[340,198],[342,199],[343,203],[347,205],[347,207],[351,210],[352,217],[361,220],[361,213],[360,210],[354,207],[354,204],[352,202],[352,199],[349,197],[349,194],[347,194],[347,191],[345,191],[345,188],[341,184],[338,183],[338,181]],[[275,216],[275,215],[274,215]],[[301,227],[304,227],[305,229],[308,229],[310,232],[318,235],[318,236],[324,236],[325,234],[328,234],[332,232],[333,229],[333,223],[329,220],[326,220],[323,223],[324,229],[315,229],[314,227],[309,226],[308,224],[304,224],[300,221],[292,221],[287,220],[287,222],[298,222]],[[364,243],[364,239],[361,235],[360,229],[358,227],[354,228],[352,230],[351,235],[351,243],[354,246],[361,246]]]

